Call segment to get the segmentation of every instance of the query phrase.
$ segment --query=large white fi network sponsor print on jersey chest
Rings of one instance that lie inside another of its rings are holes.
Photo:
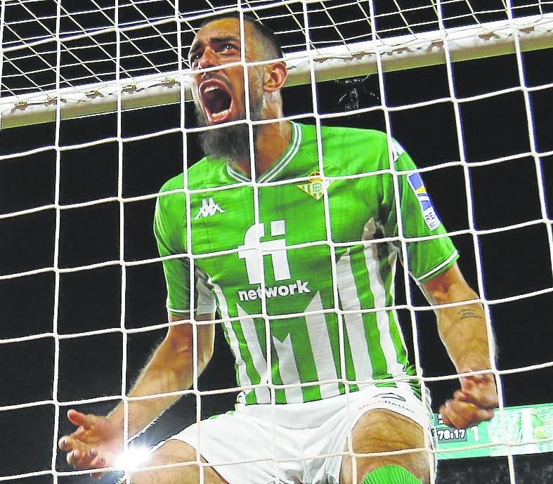
[[[271,237],[284,236],[285,232],[285,221],[275,220],[271,222]],[[271,260],[273,275],[276,281],[291,279],[292,276],[290,275],[286,240],[284,238],[278,238],[260,242],[262,237],[265,237],[265,224],[256,223],[246,231],[244,245],[238,247],[238,258],[245,260],[249,284],[261,284],[260,263],[261,260],[263,260],[265,268],[266,256],[269,256]],[[309,282],[298,279],[292,284],[280,284],[266,287],[265,296],[270,298],[311,292],[308,284]],[[261,287],[259,287],[257,289],[238,291],[238,296],[240,297],[240,301],[254,301],[255,299],[261,299],[263,293],[261,292]]]

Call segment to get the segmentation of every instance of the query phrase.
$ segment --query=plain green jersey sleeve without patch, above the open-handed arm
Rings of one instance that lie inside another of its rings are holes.
[[[163,190],[163,189],[162,189]],[[160,195],[155,205],[154,235],[160,256],[181,257],[163,259],[163,271],[167,283],[167,310],[172,315],[190,313],[190,258],[186,256],[183,240],[186,240],[184,220],[185,198],[182,193]],[[215,300],[209,287],[207,275],[199,268],[194,270],[195,314],[215,311]]]

